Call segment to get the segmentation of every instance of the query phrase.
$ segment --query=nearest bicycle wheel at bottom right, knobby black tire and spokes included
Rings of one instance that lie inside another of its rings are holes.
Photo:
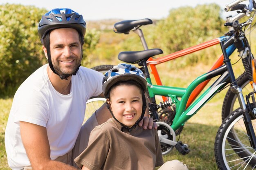
[[[256,120],[252,123],[255,126]],[[255,168],[256,157],[250,161],[248,159],[249,156],[255,156],[255,150],[250,145],[241,108],[234,110],[222,122],[216,135],[214,153],[220,170]]]

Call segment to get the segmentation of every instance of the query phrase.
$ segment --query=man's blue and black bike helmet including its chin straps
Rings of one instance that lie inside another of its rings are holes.
[[[52,9],[51,11],[45,13],[45,15],[42,16],[42,19],[39,22],[38,25],[38,35],[40,38],[40,41],[43,44],[43,39],[46,38],[46,49],[47,49],[47,56],[48,56],[48,63],[52,71],[60,76],[61,79],[67,79],[70,75],[59,75],[53,65],[51,60],[51,53],[50,53],[50,42],[49,42],[49,31],[54,29],[60,29],[60,28],[72,28],[76,29],[78,31],[79,36],[81,37],[81,46],[83,46],[83,38],[86,32],[86,23],[83,20],[83,16],[79,15],[79,13],[76,13],[72,9],[68,8],[56,8]],[[82,57],[83,57],[83,49],[81,51]],[[76,68],[75,73],[73,75],[76,75],[77,71],[79,70],[79,67],[81,64]]]

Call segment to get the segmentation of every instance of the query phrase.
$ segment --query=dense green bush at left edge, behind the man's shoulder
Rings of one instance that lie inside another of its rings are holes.
[[[0,94],[11,93],[43,62],[37,26],[44,9],[0,5]]]

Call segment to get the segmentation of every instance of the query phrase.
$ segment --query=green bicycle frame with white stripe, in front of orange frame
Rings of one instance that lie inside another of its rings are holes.
[[[227,48],[228,55],[231,55],[235,49],[234,45]],[[221,76],[186,109],[186,103],[192,91],[200,83],[218,75]],[[223,65],[213,71],[199,76],[187,88],[152,85],[150,78],[147,78],[147,82],[150,98],[155,98],[155,95],[171,97],[172,102],[176,105],[176,115],[173,119],[171,128],[173,128],[173,130],[177,130],[180,126],[183,126],[189,118],[195,115],[198,110],[200,110],[200,108],[202,108],[202,106],[204,106],[213,96],[221,91],[222,88],[229,84],[230,80],[227,66]]]

